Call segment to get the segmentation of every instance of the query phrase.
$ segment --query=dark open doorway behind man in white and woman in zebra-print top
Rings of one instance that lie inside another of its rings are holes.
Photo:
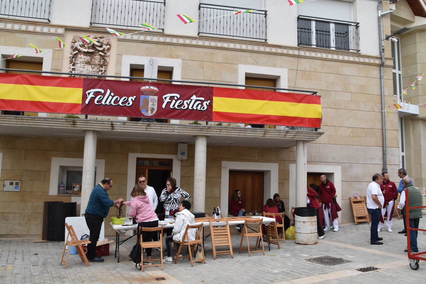
[[[155,189],[155,193],[159,198],[161,191],[166,187],[166,179],[171,176],[172,167],[173,160],[171,159],[137,158],[135,184],[138,183],[138,178],[144,175],[148,181],[147,184]],[[155,213],[159,214],[162,212],[163,203],[158,200]]]

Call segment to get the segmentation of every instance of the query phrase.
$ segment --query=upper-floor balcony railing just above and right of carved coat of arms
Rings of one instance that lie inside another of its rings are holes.
[[[90,24],[139,27],[148,23],[164,31],[165,0],[93,0]]]

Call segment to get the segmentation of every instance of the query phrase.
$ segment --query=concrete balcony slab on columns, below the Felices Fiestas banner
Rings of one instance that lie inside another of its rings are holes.
[[[296,141],[315,141],[324,132],[256,129],[171,123],[86,120],[0,115],[2,135],[44,136],[84,139],[86,130],[98,132],[98,139],[195,143],[207,136],[208,145],[288,148]]]

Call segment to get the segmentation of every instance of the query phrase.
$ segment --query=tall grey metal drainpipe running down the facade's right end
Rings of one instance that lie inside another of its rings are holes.
[[[385,86],[383,82],[383,66],[385,65],[385,49],[383,47],[383,33],[382,33],[382,0],[377,3],[378,23],[379,23],[379,52],[381,57],[380,62],[380,98],[382,100],[382,155],[383,155],[383,169],[382,172],[388,171],[387,154],[386,154],[386,114],[383,112],[385,109]]]

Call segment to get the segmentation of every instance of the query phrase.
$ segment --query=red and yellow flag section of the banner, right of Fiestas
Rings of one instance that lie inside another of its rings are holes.
[[[214,88],[213,121],[321,127],[317,95]]]

